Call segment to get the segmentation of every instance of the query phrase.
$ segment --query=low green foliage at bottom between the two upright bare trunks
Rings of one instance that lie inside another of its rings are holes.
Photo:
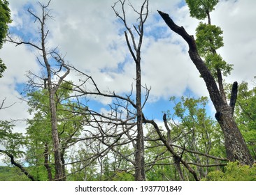
[[[88,141],[89,142],[89,141]],[[100,144],[98,145],[98,147]],[[132,153],[128,146],[118,146],[118,151],[123,155]],[[72,173],[68,180],[87,180],[87,181],[133,181],[134,176],[126,170],[131,167],[120,155],[111,151],[104,157],[99,157],[97,160],[90,162],[94,153],[90,147],[80,144],[80,150],[73,159],[78,163],[71,165],[70,172]]]

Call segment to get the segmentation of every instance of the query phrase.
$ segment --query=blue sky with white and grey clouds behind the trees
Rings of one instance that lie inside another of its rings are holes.
[[[131,84],[135,86],[135,65],[130,60],[125,42],[122,22],[115,17],[111,6],[117,0],[52,0],[53,18],[47,21],[50,30],[48,47],[58,47],[65,59],[78,70],[87,72],[97,82],[102,91],[129,94]],[[27,40],[36,40],[38,24],[27,12],[31,8],[40,12],[38,0],[9,0],[12,12],[10,31]],[[46,4],[48,1],[41,1]],[[130,1],[139,8],[141,0]],[[225,78],[228,83],[248,81],[252,84],[256,62],[256,1],[221,0],[211,13],[211,22],[224,31],[225,46],[218,49],[227,63],[234,64],[232,74]],[[129,6],[127,20],[136,24],[136,15]],[[120,8],[117,7],[117,10]],[[161,121],[162,111],[171,109],[169,98],[175,95],[190,97],[208,96],[203,79],[187,53],[185,41],[172,33],[157,10],[162,10],[173,18],[188,33],[195,34],[198,20],[190,17],[183,0],[150,0],[150,14],[145,23],[142,46],[142,84],[151,87],[148,104],[144,112],[149,119]],[[0,57],[7,70],[0,79],[0,100],[6,98],[0,110],[0,120],[16,120],[15,131],[25,132],[23,119],[31,118],[27,104],[22,98],[22,90],[27,84],[27,73],[41,75],[42,69],[36,61],[38,52],[31,47],[15,46],[6,42],[0,50]],[[77,79],[75,74],[69,79]],[[89,107],[106,108],[110,99],[91,101]],[[214,114],[209,104],[208,112]]]

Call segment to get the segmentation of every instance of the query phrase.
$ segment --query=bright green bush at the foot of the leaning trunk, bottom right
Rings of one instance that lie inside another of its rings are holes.
[[[224,171],[212,171],[204,178],[208,181],[256,181],[256,164],[252,167],[229,162]]]

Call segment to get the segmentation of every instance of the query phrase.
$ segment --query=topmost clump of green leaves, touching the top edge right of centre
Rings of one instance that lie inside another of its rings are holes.
[[[218,2],[219,0],[186,0],[190,8],[190,16],[198,20],[204,20]]]

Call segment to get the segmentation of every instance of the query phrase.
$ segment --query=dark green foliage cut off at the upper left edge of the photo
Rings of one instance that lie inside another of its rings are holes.
[[[0,0],[0,49],[3,47],[3,41],[8,32],[8,24],[12,22],[8,5],[8,1]],[[6,65],[0,59],[0,78],[3,77],[4,70],[6,70]]]

